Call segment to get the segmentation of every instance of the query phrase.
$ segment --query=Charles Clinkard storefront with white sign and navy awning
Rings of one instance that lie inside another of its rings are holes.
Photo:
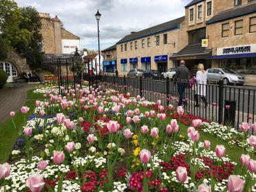
[[[256,44],[220,47],[217,48],[217,55],[208,59],[213,60],[213,67],[229,68],[241,74],[256,74]]]

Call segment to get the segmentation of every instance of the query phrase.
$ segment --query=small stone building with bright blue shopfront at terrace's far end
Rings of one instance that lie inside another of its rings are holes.
[[[103,72],[105,74],[114,74],[116,72],[116,45],[112,45],[111,47],[107,47],[105,50],[101,51],[103,57],[105,58],[103,61]]]

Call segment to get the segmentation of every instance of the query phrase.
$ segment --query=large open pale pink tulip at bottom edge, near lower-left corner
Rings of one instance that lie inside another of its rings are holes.
[[[25,182],[25,186],[28,186],[28,188],[32,192],[41,191],[44,185],[45,185],[45,182],[43,182],[43,175],[40,175],[38,173],[30,175],[28,180],[26,180]]]

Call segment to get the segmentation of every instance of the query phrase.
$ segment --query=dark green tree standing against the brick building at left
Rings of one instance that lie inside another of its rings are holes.
[[[20,41],[19,43],[13,44],[12,46],[21,54],[21,56],[27,58],[27,62],[32,69],[41,67],[43,61],[42,54],[42,41],[41,35],[41,18],[39,12],[32,7],[21,8],[21,14],[23,20],[21,21],[19,28],[30,31],[30,41]]]

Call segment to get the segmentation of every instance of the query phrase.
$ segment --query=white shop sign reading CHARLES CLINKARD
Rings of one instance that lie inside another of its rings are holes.
[[[217,55],[255,53],[256,44],[217,48]]]

